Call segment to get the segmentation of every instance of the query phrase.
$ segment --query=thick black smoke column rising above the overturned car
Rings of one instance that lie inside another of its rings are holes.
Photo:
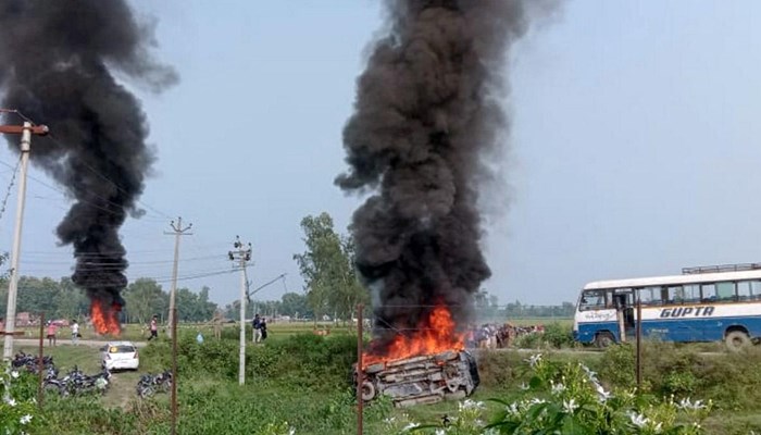
[[[489,277],[479,247],[479,181],[509,125],[504,60],[527,29],[527,1],[387,0],[390,35],[358,80],[344,129],[345,190],[357,210],[357,264],[377,291],[376,344],[421,325],[435,304],[463,326]]]

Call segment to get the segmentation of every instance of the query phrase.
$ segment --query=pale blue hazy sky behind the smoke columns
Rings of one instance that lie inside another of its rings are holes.
[[[380,1],[133,4],[157,18],[154,53],[182,80],[159,96],[132,87],[158,162],[147,214],[123,229],[129,277],[169,288],[174,239],[163,232],[182,215],[195,235],[182,241],[180,277],[229,270],[240,235],[253,244],[254,286],[287,273],[301,290],[299,221],[327,211],[345,232],[359,203],[333,178],[346,169],[341,129]],[[578,0],[540,23],[504,70],[510,206],[486,227],[484,287],[502,303],[549,304],[575,301],[589,281],[761,261],[760,20],[750,0]],[[71,249],[53,234],[68,202],[30,175],[21,273],[68,275]],[[0,195],[10,177],[0,167]],[[15,192],[0,250],[11,247]],[[209,285],[223,304],[239,294],[237,274],[179,285]],[[277,283],[258,298],[284,291]]]

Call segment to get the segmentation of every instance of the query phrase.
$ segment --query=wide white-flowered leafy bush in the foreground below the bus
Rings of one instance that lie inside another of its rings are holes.
[[[711,402],[673,397],[659,400],[635,390],[608,390],[597,374],[582,363],[558,363],[541,355],[525,360],[527,384],[519,400],[491,399],[494,413],[482,402],[465,400],[458,413],[437,424],[421,425],[402,414],[387,419],[387,433],[434,435],[497,434],[702,434],[701,422]],[[484,415],[491,413],[491,419]]]

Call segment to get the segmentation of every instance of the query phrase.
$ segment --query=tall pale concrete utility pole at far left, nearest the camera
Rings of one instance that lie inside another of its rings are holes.
[[[21,135],[21,173],[18,174],[18,198],[16,200],[16,224],[13,232],[13,251],[11,252],[11,277],[8,284],[8,309],[5,311],[5,340],[2,358],[13,357],[13,336],[16,327],[16,293],[18,291],[18,254],[21,252],[21,229],[24,221],[24,201],[26,199],[26,171],[29,166],[32,135],[45,136],[48,127],[25,122],[20,125],[0,125],[0,133]]]

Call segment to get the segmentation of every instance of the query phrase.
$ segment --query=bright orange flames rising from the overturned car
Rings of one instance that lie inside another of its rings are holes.
[[[438,306],[431,312],[428,319],[421,322],[414,334],[397,335],[385,355],[363,353],[362,365],[464,348],[464,334],[456,331],[456,324],[449,310],[444,306]]]

